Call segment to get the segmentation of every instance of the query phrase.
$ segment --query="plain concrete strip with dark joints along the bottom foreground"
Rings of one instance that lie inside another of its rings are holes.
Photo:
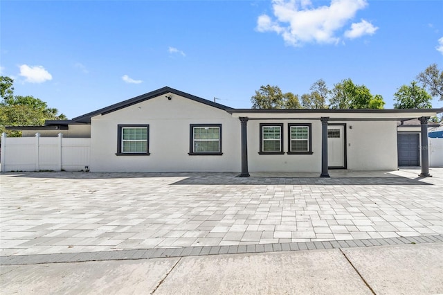
[[[3,265],[1,294],[441,294],[443,243]]]

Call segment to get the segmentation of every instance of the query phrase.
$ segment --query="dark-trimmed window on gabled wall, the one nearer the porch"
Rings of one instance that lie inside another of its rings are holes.
[[[221,155],[221,124],[190,124],[190,155]]]

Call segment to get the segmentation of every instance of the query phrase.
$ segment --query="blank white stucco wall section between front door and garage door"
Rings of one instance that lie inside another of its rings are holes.
[[[397,169],[397,123],[395,121],[348,122],[347,168]]]

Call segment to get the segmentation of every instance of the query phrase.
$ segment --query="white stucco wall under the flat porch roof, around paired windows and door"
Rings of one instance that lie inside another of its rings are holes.
[[[260,123],[283,123],[284,154],[259,154]],[[313,154],[287,154],[289,123],[311,123],[311,150]],[[347,169],[397,169],[397,125],[395,121],[331,122],[331,124],[341,123],[346,124]],[[248,121],[248,168],[250,172],[320,172],[321,153],[320,120]]]

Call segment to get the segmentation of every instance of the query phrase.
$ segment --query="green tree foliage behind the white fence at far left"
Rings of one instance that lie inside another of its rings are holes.
[[[58,115],[55,108],[33,96],[14,96],[13,81],[9,77],[0,77],[0,133],[8,136],[21,136],[21,132],[6,130],[6,126],[41,126],[45,120],[66,120],[64,114]]]

